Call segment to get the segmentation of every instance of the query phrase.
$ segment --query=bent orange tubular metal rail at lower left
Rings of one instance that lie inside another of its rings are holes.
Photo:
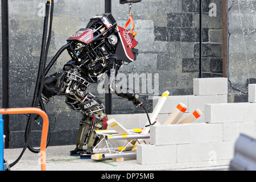
[[[36,107],[0,109],[0,114],[39,114],[43,118],[43,130],[40,144],[41,171],[46,171],[46,142],[49,127],[48,115]]]

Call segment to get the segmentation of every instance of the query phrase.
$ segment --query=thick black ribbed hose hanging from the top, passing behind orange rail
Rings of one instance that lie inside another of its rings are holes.
[[[32,107],[38,107],[38,105],[39,105],[38,97],[39,97],[40,85],[41,85],[41,82],[42,82],[44,58],[45,58],[45,55],[46,55],[46,40],[47,40],[48,18],[49,18],[49,6],[50,6],[50,2],[47,1],[47,3],[46,3],[46,16],[44,17],[42,48],[41,48],[40,62],[39,62],[39,68],[38,68],[38,78],[36,80],[35,92],[34,92],[34,97],[33,97],[33,101],[32,101]],[[35,115],[30,114],[29,117],[28,117],[27,126],[26,126],[26,130],[25,130],[25,141],[26,142],[27,142],[27,140],[30,139],[28,137],[30,136],[31,124],[32,124],[32,121],[34,121],[34,119],[35,119]],[[40,149],[35,149],[35,148],[31,147],[29,142],[28,142],[27,147],[31,152],[34,152],[34,153],[40,152]]]

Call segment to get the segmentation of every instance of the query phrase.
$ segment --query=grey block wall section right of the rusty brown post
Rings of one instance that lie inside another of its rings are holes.
[[[256,1],[228,1],[229,102],[247,102],[248,84],[256,84]]]

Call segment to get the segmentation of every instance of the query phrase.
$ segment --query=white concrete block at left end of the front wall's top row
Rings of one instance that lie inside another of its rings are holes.
[[[205,104],[205,122],[242,122],[245,103]]]

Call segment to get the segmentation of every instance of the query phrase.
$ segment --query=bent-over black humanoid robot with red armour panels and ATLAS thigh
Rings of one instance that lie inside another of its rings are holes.
[[[42,93],[45,104],[52,96],[65,96],[65,103],[83,115],[76,138],[76,148],[71,151],[73,156],[90,155],[90,149],[100,140],[93,135],[93,131],[104,130],[108,126],[105,106],[99,98],[86,91],[90,84],[98,83],[106,77],[106,91],[126,98],[136,106],[142,105],[142,98],[134,90],[117,88],[115,85],[119,68],[136,60],[138,54],[138,49],[135,48],[137,41],[134,38],[136,33],[125,28],[126,26],[117,26],[111,13],[94,16],[86,28],[81,28],[68,38],[67,44],[56,53],[57,58],[67,49],[71,60],[61,71],[47,76],[44,80]],[[46,73],[55,60],[53,57]]]

